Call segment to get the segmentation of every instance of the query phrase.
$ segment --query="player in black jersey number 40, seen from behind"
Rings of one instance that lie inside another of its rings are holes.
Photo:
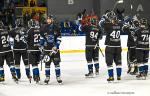
[[[107,81],[114,81],[113,61],[116,64],[117,80],[121,80],[122,48],[121,48],[120,33],[122,31],[122,24],[118,21],[115,13],[112,12],[111,15],[109,16],[109,22],[103,20],[103,22],[101,22],[101,26],[104,28],[104,32],[106,33],[105,60],[108,67],[108,76],[109,76]]]

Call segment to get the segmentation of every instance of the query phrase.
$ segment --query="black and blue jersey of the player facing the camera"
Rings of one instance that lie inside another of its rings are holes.
[[[61,32],[59,26],[55,24],[46,24],[41,29],[41,36],[45,40],[45,50],[51,50],[52,47],[56,46],[59,48],[61,42]]]

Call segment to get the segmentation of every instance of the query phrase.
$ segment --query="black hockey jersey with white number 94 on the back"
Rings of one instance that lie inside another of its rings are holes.
[[[84,26],[82,31],[86,34],[85,45],[87,47],[95,47],[96,44],[99,45],[99,39],[102,37],[102,31],[98,26]]]

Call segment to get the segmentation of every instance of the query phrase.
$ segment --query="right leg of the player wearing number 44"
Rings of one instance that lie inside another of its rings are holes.
[[[25,71],[26,71],[26,76],[27,78],[31,78],[31,74],[30,74],[30,64],[28,62],[28,53],[26,50],[22,51],[22,59],[25,65]]]

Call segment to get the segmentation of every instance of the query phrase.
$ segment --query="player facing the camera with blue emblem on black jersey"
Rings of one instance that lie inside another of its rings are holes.
[[[41,45],[45,50],[45,83],[50,81],[50,66],[53,62],[55,65],[55,74],[58,83],[62,83],[60,70],[60,51],[59,45],[61,43],[60,28],[54,23],[53,16],[47,17],[47,24],[41,29]]]

